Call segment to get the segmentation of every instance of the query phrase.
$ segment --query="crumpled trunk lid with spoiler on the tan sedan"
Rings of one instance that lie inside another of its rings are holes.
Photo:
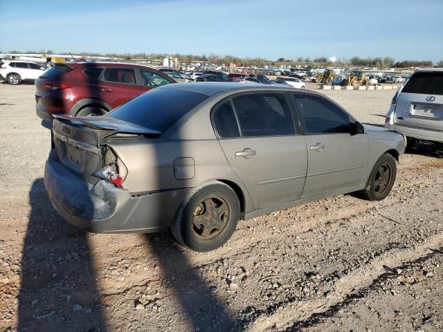
[[[73,118],[54,116],[53,147],[64,167],[88,183],[100,181],[100,169],[106,165],[118,174],[127,174],[122,160],[107,146],[108,138],[131,139],[140,136],[157,137],[161,133],[114,118],[98,116]]]

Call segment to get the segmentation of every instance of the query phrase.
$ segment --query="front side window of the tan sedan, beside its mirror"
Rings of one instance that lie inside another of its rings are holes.
[[[350,133],[352,120],[334,104],[311,95],[294,98],[307,133]]]

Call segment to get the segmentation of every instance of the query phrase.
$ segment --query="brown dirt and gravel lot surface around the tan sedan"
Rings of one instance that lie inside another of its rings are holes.
[[[323,91],[382,124],[394,91]],[[382,202],[338,196],[170,234],[85,234],[48,202],[34,86],[0,84],[0,331],[442,331],[443,151],[401,156]]]

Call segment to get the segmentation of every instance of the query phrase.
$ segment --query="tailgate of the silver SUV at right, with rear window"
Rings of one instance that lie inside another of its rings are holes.
[[[417,72],[400,91],[394,123],[424,129],[443,129],[443,72]]]

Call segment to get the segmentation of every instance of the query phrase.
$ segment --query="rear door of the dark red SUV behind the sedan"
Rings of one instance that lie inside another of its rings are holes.
[[[100,99],[113,109],[136,98],[145,91],[147,89],[136,84],[134,68],[105,68],[100,76],[100,82],[98,82]]]

